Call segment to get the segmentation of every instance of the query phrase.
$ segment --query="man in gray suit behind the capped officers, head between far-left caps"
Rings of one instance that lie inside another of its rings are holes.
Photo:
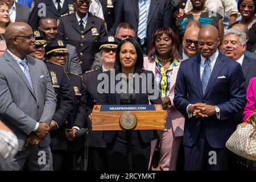
[[[51,16],[45,16],[39,20],[39,29],[46,32],[47,42],[51,42],[57,38],[57,22]],[[66,48],[68,49],[68,60],[64,65],[65,71],[81,75],[82,68],[79,63],[79,56],[77,55],[76,47],[67,44]]]

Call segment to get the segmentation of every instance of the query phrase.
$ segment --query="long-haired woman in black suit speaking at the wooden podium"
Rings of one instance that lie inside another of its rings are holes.
[[[161,99],[158,97],[158,90],[154,92],[157,96],[152,100],[151,96],[154,93],[149,93],[148,89],[146,90],[146,93],[142,92],[143,88],[151,87],[157,89],[157,85],[154,86],[154,73],[143,69],[142,49],[135,39],[128,38],[122,40],[122,42],[118,44],[114,70],[105,73],[108,75],[109,79],[109,92],[99,94],[97,104],[148,105],[149,101],[151,104],[162,104]],[[120,80],[127,84],[121,86],[121,90],[117,89],[118,81],[110,80],[113,78],[110,77],[111,74],[118,77],[118,75],[120,75],[119,73],[123,73]],[[136,78],[138,75],[140,75],[139,79],[137,79],[138,77]],[[146,81],[142,81],[141,75],[146,75]],[[131,86],[129,86],[130,79],[135,80]],[[111,85],[110,82],[113,81],[115,84]],[[110,86],[115,86],[115,89],[112,88],[114,89],[114,93],[110,93]],[[135,90],[138,90],[138,87],[139,92],[134,92]],[[127,92],[130,90],[133,90],[133,92]],[[148,170],[151,141],[157,138],[155,130],[104,131],[103,138],[106,142],[109,169],[111,171],[126,171],[131,168],[136,171]],[[132,160],[130,162],[127,162],[127,138],[131,138]]]

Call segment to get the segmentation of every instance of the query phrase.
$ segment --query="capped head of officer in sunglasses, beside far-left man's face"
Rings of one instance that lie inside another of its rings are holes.
[[[36,59],[44,60],[46,34],[39,29],[35,29],[33,32],[35,35],[35,51],[32,52],[30,56],[35,57]]]

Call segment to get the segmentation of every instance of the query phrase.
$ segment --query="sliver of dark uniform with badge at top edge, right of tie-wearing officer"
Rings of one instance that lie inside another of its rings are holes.
[[[99,1],[101,3],[104,19],[109,31],[115,22],[114,6],[117,0],[99,0]]]

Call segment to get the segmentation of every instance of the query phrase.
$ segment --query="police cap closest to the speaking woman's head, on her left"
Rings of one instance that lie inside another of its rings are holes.
[[[120,39],[115,38],[114,36],[104,36],[98,40],[98,51],[101,51],[102,49],[116,49],[118,46],[118,43],[121,42]]]

